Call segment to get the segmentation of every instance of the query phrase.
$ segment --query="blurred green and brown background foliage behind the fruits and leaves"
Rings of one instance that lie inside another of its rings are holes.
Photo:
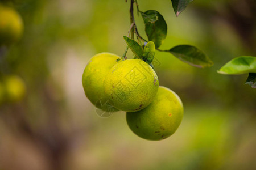
[[[122,56],[129,3],[113,0],[1,1],[23,18],[24,34],[1,47],[1,76],[26,84],[21,101],[0,106],[0,169],[255,169],[256,91],[247,75],[221,75],[230,59],[256,56],[254,0],[195,0],[176,18],[170,0],[138,0],[168,25],[161,49],[191,44],[214,66],[198,69],[156,52],[159,83],[183,100],[174,135],[146,141],[128,128],[125,113],[100,118],[81,77],[100,52]],[[141,16],[135,15],[143,37]],[[128,53],[131,58],[131,53]]]

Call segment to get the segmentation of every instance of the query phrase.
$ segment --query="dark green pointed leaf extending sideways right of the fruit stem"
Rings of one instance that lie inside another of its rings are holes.
[[[201,50],[191,45],[178,45],[169,50],[171,54],[189,65],[204,68],[213,65],[213,62]]]

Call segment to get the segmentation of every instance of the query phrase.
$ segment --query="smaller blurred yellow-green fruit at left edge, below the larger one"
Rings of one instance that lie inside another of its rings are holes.
[[[26,86],[23,80],[16,75],[9,75],[3,80],[5,85],[6,100],[16,102],[23,99],[26,94]]]

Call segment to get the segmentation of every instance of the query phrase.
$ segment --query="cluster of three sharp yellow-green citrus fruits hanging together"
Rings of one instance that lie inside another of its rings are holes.
[[[108,113],[125,111],[130,129],[144,139],[170,137],[183,118],[179,96],[159,87],[154,69],[142,59],[97,54],[85,67],[82,85],[96,108]]]

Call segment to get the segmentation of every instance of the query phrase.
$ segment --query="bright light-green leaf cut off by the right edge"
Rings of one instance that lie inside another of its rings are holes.
[[[234,58],[217,72],[220,74],[256,73],[256,57],[241,56]]]

